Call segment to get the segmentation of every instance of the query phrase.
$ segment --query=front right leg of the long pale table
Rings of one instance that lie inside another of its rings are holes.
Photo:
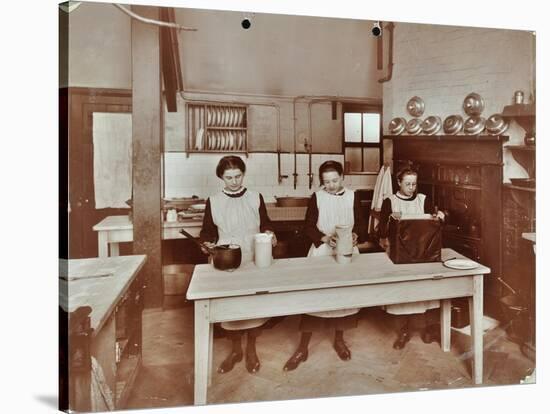
[[[483,276],[473,277],[474,294],[469,298],[470,333],[472,335],[474,384],[483,383]]]

